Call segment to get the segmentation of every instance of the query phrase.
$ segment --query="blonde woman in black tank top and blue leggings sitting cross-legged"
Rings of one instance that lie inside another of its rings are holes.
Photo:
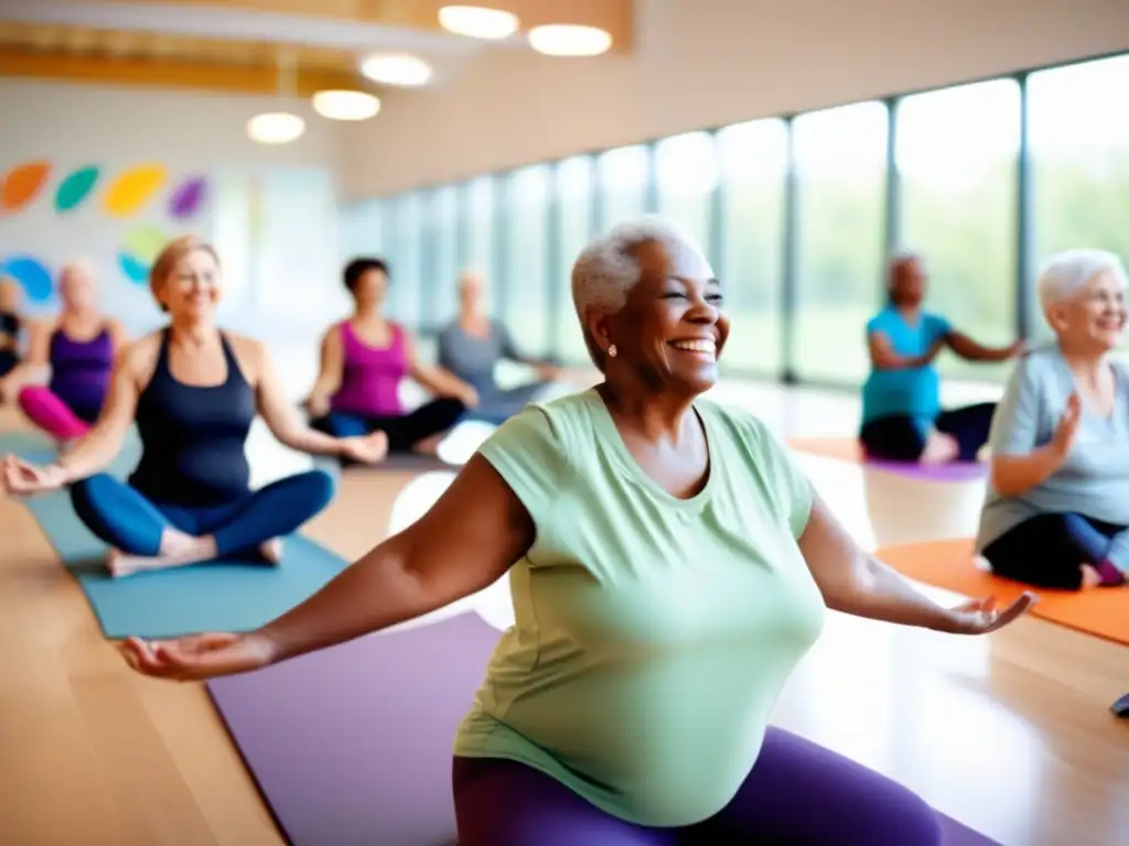
[[[308,453],[378,461],[387,439],[341,440],[305,425],[263,345],[216,326],[219,267],[209,245],[174,240],[150,283],[169,325],[123,351],[100,416],[56,464],[8,456],[6,487],[34,495],[69,485],[79,518],[111,547],[113,575],[216,558],[278,563],[281,539],[325,508],[333,482],[310,470],[252,491],[245,442],[256,414]],[[134,421],[142,452],[129,481],[99,473]]]

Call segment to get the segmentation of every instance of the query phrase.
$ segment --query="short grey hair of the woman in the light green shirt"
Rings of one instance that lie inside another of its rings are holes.
[[[604,370],[604,351],[588,331],[589,311],[614,315],[639,284],[636,254],[645,244],[662,244],[671,249],[701,252],[698,240],[681,223],[658,214],[647,214],[612,227],[593,238],[572,264],[572,305],[580,320],[584,344],[593,363]]]

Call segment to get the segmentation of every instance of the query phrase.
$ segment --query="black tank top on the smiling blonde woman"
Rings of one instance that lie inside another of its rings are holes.
[[[255,420],[255,391],[243,377],[227,338],[222,385],[184,385],[168,369],[168,329],[152,379],[138,397],[141,460],[130,484],[170,505],[219,505],[246,496],[251,468],[244,446]]]

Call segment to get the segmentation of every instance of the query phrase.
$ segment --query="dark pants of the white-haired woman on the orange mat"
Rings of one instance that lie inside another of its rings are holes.
[[[1124,526],[1082,514],[1040,514],[1000,535],[983,549],[996,575],[1036,588],[1078,590],[1082,565],[1108,561]]]

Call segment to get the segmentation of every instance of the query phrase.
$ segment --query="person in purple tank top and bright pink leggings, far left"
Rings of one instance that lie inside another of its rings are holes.
[[[98,420],[114,356],[126,338],[117,320],[98,311],[94,274],[86,265],[63,267],[59,299],[59,316],[33,328],[27,358],[8,376],[5,393],[18,389],[28,420],[68,443]],[[24,385],[43,367],[51,368],[47,385]]]

